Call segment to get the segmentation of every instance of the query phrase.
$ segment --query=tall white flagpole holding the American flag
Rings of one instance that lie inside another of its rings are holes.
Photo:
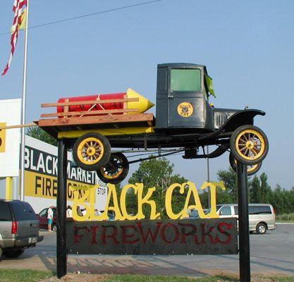
[[[27,17],[25,22],[25,51],[23,58],[23,97],[21,109],[21,124],[25,124],[25,92],[27,86],[27,27],[29,23],[29,0],[27,0]],[[25,127],[21,128],[21,149],[20,149],[20,200],[25,200]]]

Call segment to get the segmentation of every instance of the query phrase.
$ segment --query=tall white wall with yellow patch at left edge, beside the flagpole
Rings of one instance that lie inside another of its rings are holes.
[[[19,125],[21,99],[0,100],[0,126]],[[0,177],[18,176],[20,128],[0,130]]]

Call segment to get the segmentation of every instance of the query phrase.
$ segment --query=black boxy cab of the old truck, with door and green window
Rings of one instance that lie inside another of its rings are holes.
[[[192,63],[164,63],[157,66],[156,130],[173,132],[214,130],[212,79],[205,66]]]

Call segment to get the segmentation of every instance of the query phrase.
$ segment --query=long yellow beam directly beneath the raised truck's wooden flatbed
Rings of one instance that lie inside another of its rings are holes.
[[[71,130],[71,131],[60,131],[58,138],[78,138],[86,133],[99,133],[104,136],[113,135],[135,135],[142,133],[154,133],[153,127],[140,127],[140,128],[109,128],[109,129],[90,129],[90,130]]]

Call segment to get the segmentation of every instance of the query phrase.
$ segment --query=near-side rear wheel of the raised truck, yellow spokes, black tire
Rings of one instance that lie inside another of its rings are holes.
[[[86,171],[97,171],[109,161],[110,151],[109,140],[104,135],[87,133],[75,141],[73,160]]]

